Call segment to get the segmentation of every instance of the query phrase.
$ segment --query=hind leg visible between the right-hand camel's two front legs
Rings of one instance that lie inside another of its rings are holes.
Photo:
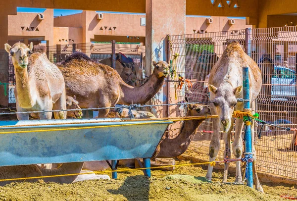
[[[225,152],[224,158],[231,158],[231,131],[233,130],[234,118],[231,119],[231,126],[227,133],[224,133]],[[225,163],[223,182],[227,182],[229,163]]]

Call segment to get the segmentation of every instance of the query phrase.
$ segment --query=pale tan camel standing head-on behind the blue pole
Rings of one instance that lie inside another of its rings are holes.
[[[249,67],[249,97],[252,110],[255,109],[255,99],[258,96],[261,85],[261,70],[257,64],[244,52],[237,41],[229,41],[226,50],[214,67],[210,71],[209,91],[211,103],[211,114],[218,115],[213,118],[213,136],[209,146],[209,161],[214,161],[220,149],[219,132],[224,132],[225,151],[224,157],[231,158],[231,131],[235,118],[232,118],[234,109],[243,110],[243,103],[237,102],[237,98],[243,98],[243,67]],[[236,158],[241,158],[243,154],[242,129],[243,119],[236,119],[236,131],[232,151]],[[253,134],[253,127],[251,129]],[[256,173],[256,151],[253,146],[253,173],[256,190],[263,192]],[[242,182],[241,161],[236,162],[235,182]],[[223,182],[227,182],[229,163],[225,164]],[[211,180],[213,166],[208,165],[206,178]]]

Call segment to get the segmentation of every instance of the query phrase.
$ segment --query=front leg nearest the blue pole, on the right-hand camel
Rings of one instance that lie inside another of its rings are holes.
[[[242,130],[244,126],[243,119],[236,119],[235,137],[232,144],[232,151],[235,158],[240,159],[243,152]],[[236,179],[235,182],[242,182],[241,161],[236,161]]]

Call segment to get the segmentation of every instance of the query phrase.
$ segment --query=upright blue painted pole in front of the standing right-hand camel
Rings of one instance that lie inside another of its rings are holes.
[[[250,108],[250,102],[249,102],[249,82],[248,82],[248,67],[243,67],[243,83],[244,83],[244,99],[247,100],[244,102],[244,108],[249,109]],[[246,136],[246,157],[252,152],[251,150],[251,133],[250,133],[250,125],[246,125],[245,128],[245,136]],[[252,188],[252,163],[249,162],[247,165],[247,186]]]

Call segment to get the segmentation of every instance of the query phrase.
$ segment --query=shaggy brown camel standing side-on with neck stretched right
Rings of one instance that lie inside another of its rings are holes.
[[[56,65],[64,76],[66,94],[76,96],[81,108],[95,108],[149,101],[169,74],[169,65],[165,61],[153,61],[152,64],[155,67],[152,74],[140,87],[129,86],[116,70],[81,52],[71,54]],[[106,117],[108,112],[109,109],[100,109],[99,118]]]

